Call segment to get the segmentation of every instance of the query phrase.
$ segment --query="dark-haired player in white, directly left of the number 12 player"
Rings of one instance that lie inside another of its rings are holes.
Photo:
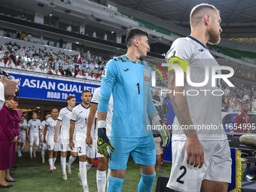
[[[78,156],[78,151],[75,145],[75,148],[71,151],[71,156],[69,157],[69,162],[66,163],[67,151],[69,151],[69,129],[70,129],[70,120],[72,110],[75,107],[75,96],[67,97],[68,106],[66,108],[62,108],[59,111],[59,117],[57,118],[56,129],[54,134],[54,142],[60,142],[60,164],[62,168],[62,179],[67,180],[66,167],[68,169],[69,174],[71,171],[71,164],[75,161],[75,158]],[[62,123],[61,132],[58,137],[59,125]],[[75,136],[75,134],[74,134]],[[58,141],[59,140],[59,141]],[[73,142],[75,144],[75,139],[73,138]]]

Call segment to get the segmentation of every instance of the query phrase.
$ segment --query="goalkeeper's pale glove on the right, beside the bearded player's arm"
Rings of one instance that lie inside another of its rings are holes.
[[[161,118],[159,117],[159,115],[155,116],[153,118],[154,123],[156,124],[156,126],[158,127],[158,130],[160,132],[160,136],[163,140],[163,148],[168,148],[169,147],[169,142],[171,140],[171,134],[169,133],[169,130],[167,130],[166,128],[163,128],[163,120],[161,120]]]

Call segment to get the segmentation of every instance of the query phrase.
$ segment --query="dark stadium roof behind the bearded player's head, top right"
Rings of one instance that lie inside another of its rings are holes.
[[[221,11],[223,33],[239,34],[233,37],[251,37],[251,34],[256,32],[255,0],[111,0],[111,2],[187,28],[191,9],[200,3],[209,3]]]

